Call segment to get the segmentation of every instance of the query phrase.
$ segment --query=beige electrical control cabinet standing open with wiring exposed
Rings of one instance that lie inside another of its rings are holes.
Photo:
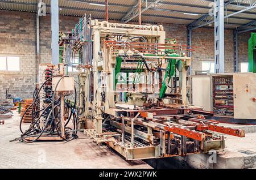
[[[256,119],[256,74],[192,76],[192,104],[219,116]]]

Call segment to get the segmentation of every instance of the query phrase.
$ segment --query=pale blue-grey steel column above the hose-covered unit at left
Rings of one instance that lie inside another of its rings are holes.
[[[51,1],[52,63],[59,64],[59,1]]]

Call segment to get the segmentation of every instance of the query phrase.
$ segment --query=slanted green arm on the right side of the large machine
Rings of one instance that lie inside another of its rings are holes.
[[[170,57],[179,57],[179,54],[170,54]],[[176,69],[176,59],[170,59],[171,61],[168,63],[166,68],[166,74],[164,75],[164,80],[162,84],[162,88],[160,90],[159,98],[164,98],[166,90],[168,88],[168,84],[170,83],[171,77],[174,75]],[[167,80],[168,78],[168,80]],[[166,83],[167,82],[167,83]]]

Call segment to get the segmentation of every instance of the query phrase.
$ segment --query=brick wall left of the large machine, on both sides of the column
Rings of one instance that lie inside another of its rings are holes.
[[[60,31],[69,31],[77,18],[60,16]],[[0,10],[0,55],[20,57],[20,71],[0,71],[0,99],[5,88],[15,97],[31,98],[37,78],[36,15]],[[40,17],[40,63],[51,63],[51,18]]]

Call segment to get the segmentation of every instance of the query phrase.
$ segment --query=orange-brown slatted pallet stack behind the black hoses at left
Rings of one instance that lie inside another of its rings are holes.
[[[26,99],[26,100],[23,100],[22,103],[21,103],[21,112],[20,112],[20,116],[23,116],[24,112],[28,109],[28,107],[33,104],[33,99]],[[31,123],[32,122],[32,110],[33,110],[33,107],[31,106],[26,114],[24,115],[22,121],[24,123]]]

